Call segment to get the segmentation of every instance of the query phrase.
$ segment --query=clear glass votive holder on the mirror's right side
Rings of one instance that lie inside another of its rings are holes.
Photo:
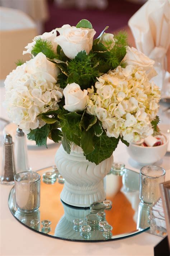
[[[140,200],[154,204],[160,198],[159,184],[165,181],[165,170],[159,166],[144,166],[140,171]]]

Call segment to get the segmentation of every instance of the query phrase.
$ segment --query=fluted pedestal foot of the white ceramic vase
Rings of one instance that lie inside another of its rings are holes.
[[[106,194],[103,188],[103,181],[89,187],[79,187],[65,182],[61,192],[61,200],[69,205],[78,207],[89,207],[94,202],[103,202]]]

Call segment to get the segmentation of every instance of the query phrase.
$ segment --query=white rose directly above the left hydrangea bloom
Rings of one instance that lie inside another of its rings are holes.
[[[35,74],[38,72],[47,72],[55,80],[57,80],[57,75],[60,73],[60,69],[54,64],[53,62],[47,60],[46,55],[44,55],[42,52],[39,52],[36,57],[33,59],[27,61],[27,64],[25,66],[25,71],[29,74]],[[52,81],[52,83],[55,83]]]

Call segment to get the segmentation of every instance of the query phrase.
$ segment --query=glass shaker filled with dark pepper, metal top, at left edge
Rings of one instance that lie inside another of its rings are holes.
[[[0,177],[0,182],[4,185],[14,184],[14,175],[16,172],[13,145],[11,135],[6,134],[3,142],[3,169]]]

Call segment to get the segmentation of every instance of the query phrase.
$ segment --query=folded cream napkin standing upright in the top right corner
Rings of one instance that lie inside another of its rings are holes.
[[[166,70],[166,52],[170,43],[169,0],[148,0],[132,17],[128,25],[136,47],[155,60],[157,85],[162,87]]]

